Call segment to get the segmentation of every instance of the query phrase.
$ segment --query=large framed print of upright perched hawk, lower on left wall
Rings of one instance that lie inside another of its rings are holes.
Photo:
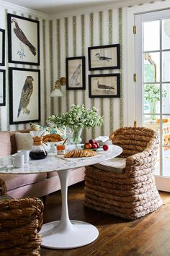
[[[40,121],[40,70],[9,67],[9,123]]]

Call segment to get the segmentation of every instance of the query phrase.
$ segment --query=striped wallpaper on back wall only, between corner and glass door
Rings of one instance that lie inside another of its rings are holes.
[[[72,104],[84,104],[86,108],[95,106],[98,113],[104,116],[102,127],[84,129],[83,140],[99,135],[109,135],[113,129],[123,126],[123,95],[122,95],[122,50],[120,51],[121,69],[102,70],[103,74],[120,72],[120,98],[89,98],[89,74],[99,74],[99,71],[89,72],[88,47],[120,43],[122,48],[122,9],[104,9],[100,12],[86,12],[49,21],[49,38],[55,38],[50,49],[50,80],[55,81],[66,76],[66,58],[86,56],[86,90],[66,90],[62,98],[54,98],[50,103],[50,114],[60,114],[68,111]],[[54,36],[55,35],[55,36]],[[52,58],[52,59],[51,59]],[[53,73],[53,77],[52,77]]]

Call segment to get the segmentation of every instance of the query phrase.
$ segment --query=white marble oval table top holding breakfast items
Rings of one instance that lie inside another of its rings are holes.
[[[2,174],[37,174],[41,172],[61,171],[82,166],[90,166],[110,158],[114,158],[122,153],[122,148],[116,145],[109,147],[109,150],[97,150],[97,155],[89,158],[63,158],[56,153],[48,153],[48,156],[41,160],[30,160],[24,163],[22,168],[14,168],[12,156],[0,158],[0,173]]]

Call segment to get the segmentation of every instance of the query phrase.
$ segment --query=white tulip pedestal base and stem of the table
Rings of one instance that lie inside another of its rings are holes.
[[[42,225],[42,247],[52,249],[71,249],[94,242],[99,236],[98,229],[83,221],[70,221],[68,216],[68,176],[69,170],[58,171],[61,182],[62,211],[61,221]],[[76,203],[76,202],[75,202]]]

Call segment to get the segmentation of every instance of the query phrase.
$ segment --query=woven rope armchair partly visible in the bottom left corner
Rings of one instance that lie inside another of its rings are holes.
[[[40,255],[43,203],[38,198],[13,199],[0,179],[0,255]]]

